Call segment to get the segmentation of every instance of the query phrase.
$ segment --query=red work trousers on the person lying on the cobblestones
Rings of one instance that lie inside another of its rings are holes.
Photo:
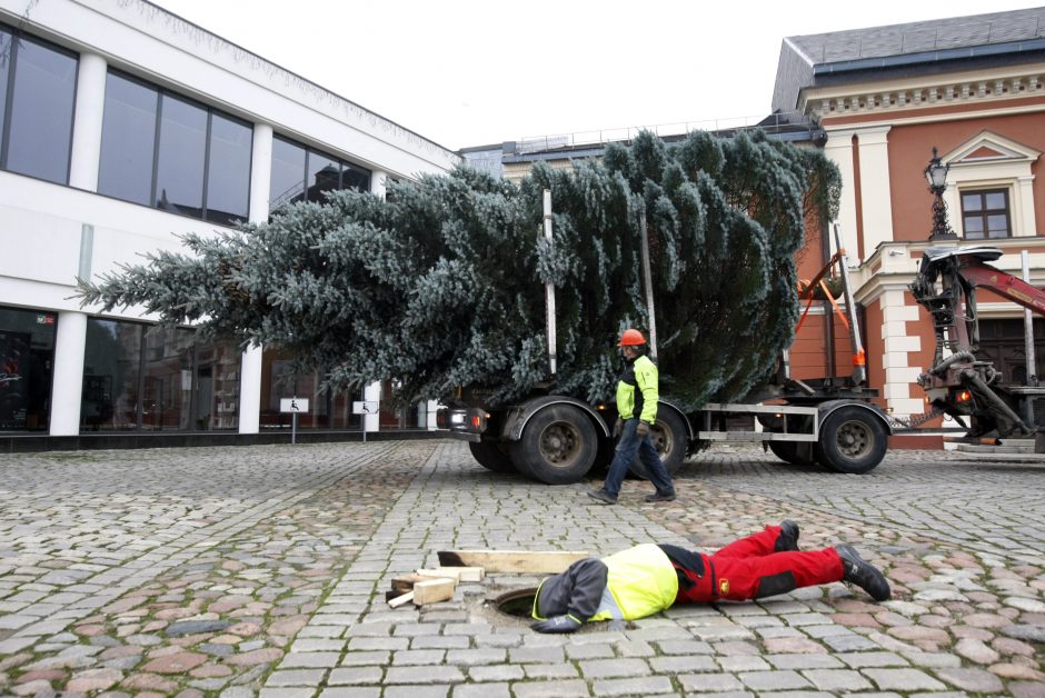
[[[734,541],[714,555],[700,554],[704,575],[696,577],[680,570],[694,584],[685,589],[679,580],[675,602],[746,601],[842,580],[845,570],[834,548],[776,552],[779,535],[779,526],[766,526],[765,530]]]

